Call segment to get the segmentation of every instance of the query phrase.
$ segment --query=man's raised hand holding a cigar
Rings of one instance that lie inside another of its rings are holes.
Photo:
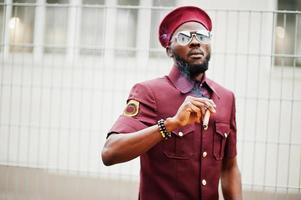
[[[171,120],[179,127],[193,123],[201,123],[205,112],[215,113],[215,103],[211,99],[187,96]]]

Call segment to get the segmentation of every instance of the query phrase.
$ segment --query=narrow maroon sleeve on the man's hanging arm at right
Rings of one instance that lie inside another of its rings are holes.
[[[225,147],[225,157],[234,158],[237,155],[236,143],[237,143],[237,129],[236,129],[236,107],[235,107],[235,96],[232,94],[232,109],[230,119],[230,131],[229,137],[227,138]]]

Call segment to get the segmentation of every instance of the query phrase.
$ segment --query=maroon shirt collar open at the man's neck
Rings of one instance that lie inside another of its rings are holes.
[[[176,66],[172,67],[172,69],[168,75],[168,78],[173,83],[173,85],[183,94],[191,92],[191,90],[193,89],[193,86],[195,84],[195,81],[193,81],[193,80],[189,79],[188,77],[186,77],[185,75],[183,75]],[[206,77],[206,74],[204,74],[200,85],[208,86],[208,88],[212,92],[214,92],[217,96],[219,96],[216,93],[216,90],[214,89],[214,83]]]

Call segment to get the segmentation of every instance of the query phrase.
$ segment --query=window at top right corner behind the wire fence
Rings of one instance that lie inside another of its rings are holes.
[[[301,10],[299,0],[278,0],[278,10]],[[276,66],[301,67],[301,17],[296,12],[277,13],[275,28]]]

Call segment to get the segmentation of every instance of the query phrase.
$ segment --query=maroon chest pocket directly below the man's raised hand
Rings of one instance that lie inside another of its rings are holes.
[[[162,150],[170,159],[191,159],[195,154],[194,125],[185,126],[172,132],[172,138],[162,142]]]

